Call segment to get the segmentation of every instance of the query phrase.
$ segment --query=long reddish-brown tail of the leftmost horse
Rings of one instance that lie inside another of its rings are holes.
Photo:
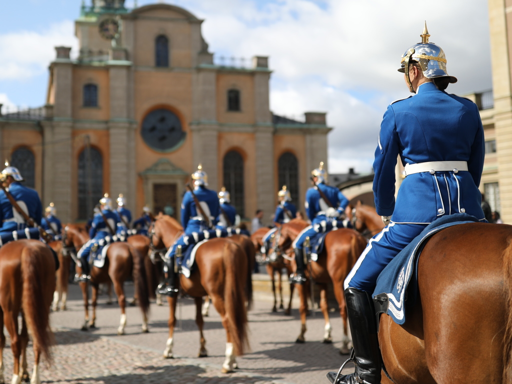
[[[41,244],[28,244],[22,250],[22,308],[34,348],[48,362],[52,361],[50,346],[50,305],[55,290],[55,261],[52,251]]]

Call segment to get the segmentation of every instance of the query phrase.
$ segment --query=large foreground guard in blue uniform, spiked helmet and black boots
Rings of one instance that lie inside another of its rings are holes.
[[[380,125],[373,169],[377,214],[386,227],[376,234],[345,280],[356,371],[329,372],[336,384],[380,383],[381,356],[372,292],[380,272],[430,223],[468,214],[485,221],[478,189],[484,135],[477,105],[444,90],[457,79],[446,72],[443,50],[429,42],[409,48],[399,72],[412,93],[388,106]],[[395,165],[405,166],[395,202]],[[466,216],[467,217],[467,216]]]

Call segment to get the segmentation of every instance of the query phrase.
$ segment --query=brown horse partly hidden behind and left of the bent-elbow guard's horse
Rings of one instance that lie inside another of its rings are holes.
[[[294,219],[297,220],[297,219]],[[257,231],[255,231],[251,235],[251,241],[254,245],[254,249],[257,252],[260,252],[261,247],[263,246],[263,237],[267,232],[269,231],[268,228],[260,228]],[[270,251],[270,250],[269,250]],[[282,282],[282,274],[283,269],[287,270],[287,275],[289,276],[292,272],[292,266],[291,266],[291,260],[293,259],[293,255],[290,254],[281,254],[280,252],[274,252],[275,259],[272,261],[268,261],[268,263],[265,265],[265,268],[267,270],[268,275],[270,276],[270,281],[272,283],[272,293],[274,295],[274,306],[272,307],[272,312],[277,312],[278,308],[278,297],[275,293],[275,275],[278,276],[278,290],[279,290],[279,297],[280,297],[280,304],[279,309],[284,309],[283,305],[283,282]],[[290,284],[290,300],[288,302],[288,308],[285,310],[285,314],[289,315],[291,313],[291,300],[293,297],[293,288],[294,285]]]

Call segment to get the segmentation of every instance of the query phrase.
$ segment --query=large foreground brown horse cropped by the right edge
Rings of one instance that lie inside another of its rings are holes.
[[[399,384],[512,382],[512,226],[436,233],[418,262],[419,297],[399,326],[381,315],[382,359]],[[390,383],[385,375],[382,382]]]

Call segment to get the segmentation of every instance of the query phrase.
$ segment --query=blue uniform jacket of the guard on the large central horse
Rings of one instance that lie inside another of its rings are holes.
[[[220,214],[220,203],[217,193],[201,185],[194,189],[194,194],[199,203],[203,203],[201,207],[208,216],[210,223],[215,225]],[[183,225],[187,234],[206,229],[205,222],[200,217],[190,191],[185,193],[181,203],[181,225]]]

